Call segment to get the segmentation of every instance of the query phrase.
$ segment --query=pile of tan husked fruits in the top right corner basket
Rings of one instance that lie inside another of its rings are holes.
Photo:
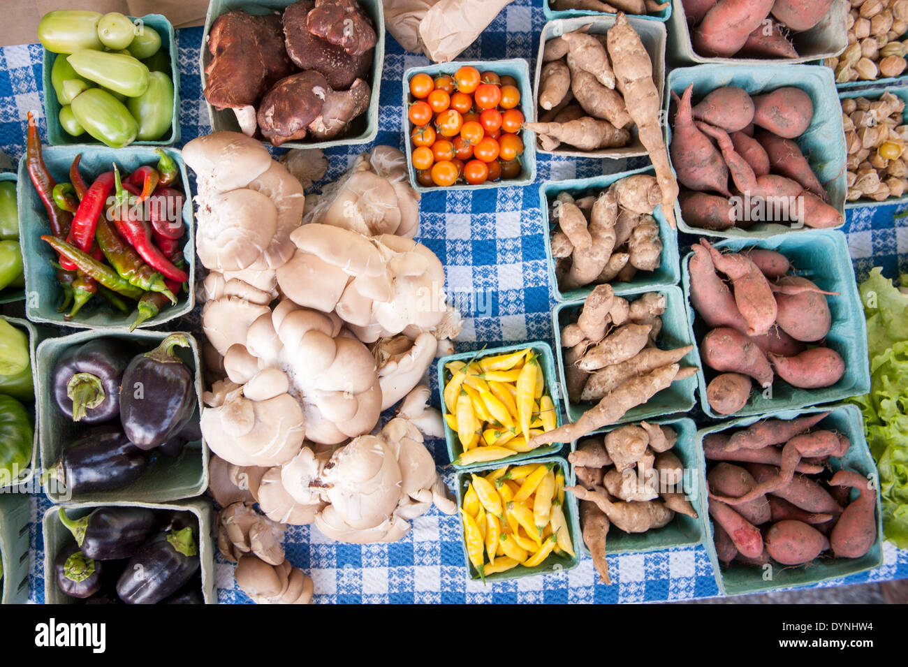
[[[904,74],[908,2],[905,0],[852,0],[846,21],[848,47],[825,58],[836,83],[873,82]]]

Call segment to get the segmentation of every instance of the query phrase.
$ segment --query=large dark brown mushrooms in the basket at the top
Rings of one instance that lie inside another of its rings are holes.
[[[376,40],[356,0],[300,0],[282,15],[234,10],[209,32],[203,93],[275,146],[338,138],[369,106]]]

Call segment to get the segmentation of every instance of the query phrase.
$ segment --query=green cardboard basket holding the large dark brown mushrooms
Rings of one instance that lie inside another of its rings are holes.
[[[202,77],[202,91],[208,82],[205,67],[212,62],[212,54],[208,51],[208,34],[212,30],[214,19],[222,14],[227,14],[235,9],[242,9],[247,14],[272,14],[282,13],[284,8],[292,5],[294,0],[210,0],[208,14],[205,16],[205,31],[202,34],[202,49],[199,53],[199,75]],[[372,92],[369,108],[366,113],[360,114],[350,123],[350,128],[344,136],[324,142],[283,142],[281,148],[331,148],[331,146],[350,146],[356,143],[369,143],[374,141],[379,132],[379,92],[381,84],[381,68],[385,62],[385,19],[381,7],[381,0],[358,0],[360,6],[370,15],[375,25],[375,35],[378,41],[375,44],[375,60],[369,75]],[[240,132],[240,124],[231,109],[215,109],[207,101],[208,118],[212,123],[212,132]],[[263,139],[265,145],[271,145]]]

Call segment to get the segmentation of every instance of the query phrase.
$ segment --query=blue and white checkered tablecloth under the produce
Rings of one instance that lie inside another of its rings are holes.
[[[526,58],[532,69],[541,6],[516,0],[489,25],[463,55],[469,60]],[[183,142],[209,132],[198,73],[202,28],[178,31]],[[403,150],[401,79],[414,65],[428,64],[406,54],[388,37],[381,81],[376,143]],[[43,114],[42,52],[38,44],[0,49],[0,170],[15,170],[25,151],[25,114]],[[44,119],[41,118],[44,129]],[[363,146],[328,151],[326,181],[336,179]],[[538,182],[619,172],[645,162],[623,164],[539,156]],[[463,347],[505,341],[552,338],[553,300],[548,285],[538,183],[524,188],[438,191],[422,198],[419,240],[445,265],[447,289],[465,315]],[[873,266],[895,277],[908,271],[908,222],[893,219],[895,206],[857,209],[844,231],[861,278]],[[689,240],[681,240],[682,246]],[[443,441],[429,442],[439,466],[447,464]],[[447,475],[449,486],[452,475]],[[39,517],[44,496],[33,502],[31,597],[44,600],[44,568]],[[308,526],[291,526],[285,535],[291,562],[311,574],[320,603],[636,603],[716,595],[713,568],[703,547],[651,554],[610,556],[613,584],[597,584],[590,559],[567,573],[547,574],[485,586],[467,580],[460,546],[459,519],[432,510],[413,522],[413,531],[394,544],[339,544]],[[908,551],[888,545],[883,567],[824,585],[856,584],[908,577]],[[218,556],[216,585],[222,603],[248,603],[234,587],[232,565]]]

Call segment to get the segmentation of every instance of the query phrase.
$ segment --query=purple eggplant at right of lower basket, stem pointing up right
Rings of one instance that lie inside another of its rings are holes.
[[[127,604],[156,604],[186,584],[200,567],[192,526],[164,530],[143,544],[116,584]]]

